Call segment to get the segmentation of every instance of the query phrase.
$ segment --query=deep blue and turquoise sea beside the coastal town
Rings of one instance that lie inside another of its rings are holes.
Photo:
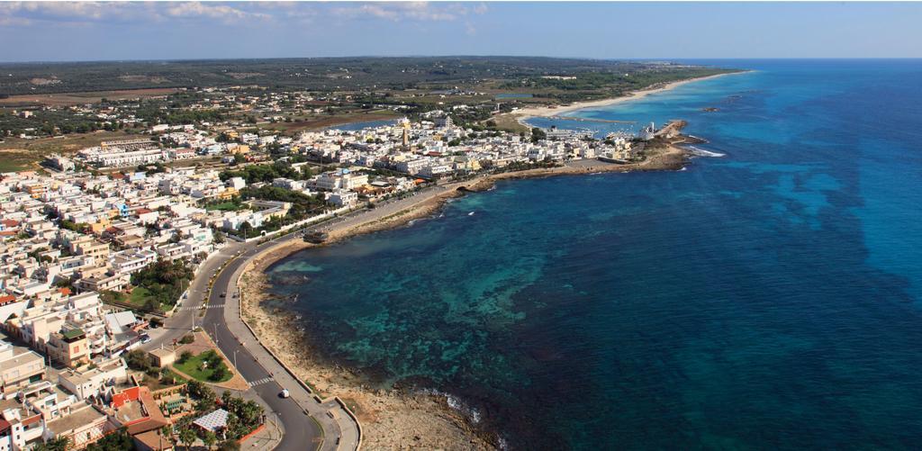
[[[577,114],[723,157],[502,182],[273,291],[325,359],[512,449],[917,449],[922,60],[703,63],[751,72]]]

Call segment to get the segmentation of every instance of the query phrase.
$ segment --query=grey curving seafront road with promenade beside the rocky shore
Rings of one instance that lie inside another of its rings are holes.
[[[443,193],[447,188],[435,186],[406,199],[394,199],[378,205],[372,210],[359,210],[333,220],[327,220],[307,228],[329,230],[331,227],[345,227],[389,216],[417,202],[420,197],[429,198]],[[153,350],[169,346],[173,340],[183,338],[193,325],[201,326],[231,359],[237,371],[251,385],[250,396],[262,399],[266,414],[277,417],[283,434],[276,449],[282,451],[303,451],[319,446],[321,451],[354,450],[358,447],[359,428],[335,401],[320,403],[308,389],[302,386],[272,358],[240,320],[239,299],[236,282],[243,267],[254,255],[266,248],[290,240],[301,239],[299,233],[290,233],[263,244],[229,243],[212,255],[199,268],[190,284],[188,298],[183,301],[166,324],[151,332],[151,341],[143,348]],[[213,281],[209,291],[209,282]],[[222,296],[222,294],[225,294]],[[200,317],[206,295],[208,305],[204,318]],[[290,391],[290,398],[280,398],[282,388]]]

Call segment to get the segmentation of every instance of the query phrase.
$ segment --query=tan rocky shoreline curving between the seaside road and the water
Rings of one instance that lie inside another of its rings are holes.
[[[485,174],[471,180],[446,184],[431,191],[367,210],[355,217],[328,225],[326,243],[407,225],[412,220],[431,217],[448,199],[467,192],[490,189],[497,181],[600,172],[679,171],[691,153],[669,144],[656,149],[638,163],[615,164],[599,160],[576,160],[553,168]],[[360,374],[334,362],[313,357],[306,331],[298,317],[284,308],[266,305],[272,300],[268,267],[279,260],[317,245],[302,240],[280,243],[255,255],[243,269],[242,317],[268,348],[278,355],[301,380],[307,381],[323,397],[338,396],[353,409],[361,421],[363,443],[378,448],[497,449],[499,437],[478,428],[462,412],[451,408],[444,396],[409,392],[399,388],[372,389]],[[278,303],[277,303],[278,305]]]

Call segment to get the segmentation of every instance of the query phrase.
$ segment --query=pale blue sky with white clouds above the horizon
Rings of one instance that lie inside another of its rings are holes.
[[[0,61],[922,57],[922,3],[0,2]]]

